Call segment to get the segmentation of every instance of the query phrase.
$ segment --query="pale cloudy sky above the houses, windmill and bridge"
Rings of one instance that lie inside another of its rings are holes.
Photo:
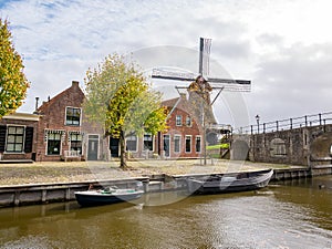
[[[209,38],[210,75],[251,81],[250,92],[222,92],[214,104],[234,126],[332,111],[331,11],[330,0],[0,0],[31,83],[18,112],[72,81],[84,90],[86,71],[115,52],[146,72],[197,73],[199,38]],[[151,81],[165,98],[183,84]]]

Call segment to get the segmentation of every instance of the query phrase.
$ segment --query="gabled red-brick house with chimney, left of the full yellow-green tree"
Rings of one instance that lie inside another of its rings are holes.
[[[82,112],[84,93],[79,82],[37,108],[37,160],[90,159],[104,157],[102,129],[93,126]]]

